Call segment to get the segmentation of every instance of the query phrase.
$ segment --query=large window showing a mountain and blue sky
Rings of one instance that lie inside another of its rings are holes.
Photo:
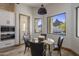
[[[48,17],[48,33],[66,35],[66,13]]]

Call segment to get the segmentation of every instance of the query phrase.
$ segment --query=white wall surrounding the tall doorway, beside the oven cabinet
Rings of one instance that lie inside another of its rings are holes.
[[[30,16],[30,33],[32,34],[32,9],[25,4],[16,4],[16,44],[19,44],[19,14]]]

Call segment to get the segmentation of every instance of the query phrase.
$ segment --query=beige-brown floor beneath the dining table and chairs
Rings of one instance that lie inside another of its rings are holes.
[[[46,55],[49,56],[48,50],[46,52]],[[0,50],[0,56],[31,56],[31,51],[30,49],[27,49],[26,53],[24,54],[24,45],[20,45],[17,47],[9,47]],[[52,56],[59,56],[59,54],[56,51],[52,50]],[[75,56],[75,54],[62,49],[62,56]]]

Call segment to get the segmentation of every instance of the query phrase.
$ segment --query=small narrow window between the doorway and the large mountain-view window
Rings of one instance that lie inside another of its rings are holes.
[[[42,18],[34,19],[34,32],[42,32]]]

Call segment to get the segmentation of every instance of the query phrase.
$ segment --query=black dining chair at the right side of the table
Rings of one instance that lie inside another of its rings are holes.
[[[63,40],[64,38],[63,37],[59,37],[58,38],[58,43],[57,44],[54,44],[54,51],[58,51],[58,53],[60,54],[61,56],[61,48],[62,48],[62,43],[63,43]]]

